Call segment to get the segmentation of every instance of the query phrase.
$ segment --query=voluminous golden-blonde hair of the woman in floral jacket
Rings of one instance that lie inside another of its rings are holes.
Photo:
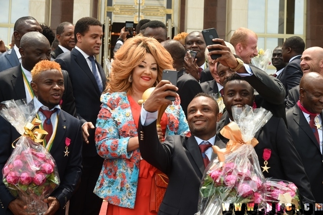
[[[128,92],[131,93],[129,76],[150,53],[157,62],[157,79],[161,80],[163,70],[173,68],[173,58],[160,43],[150,37],[135,36],[127,39],[121,48],[115,53],[112,62],[111,76],[104,92]],[[153,86],[156,86],[154,83]]]

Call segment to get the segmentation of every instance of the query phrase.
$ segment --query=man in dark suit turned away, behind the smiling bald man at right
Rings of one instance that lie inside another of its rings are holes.
[[[299,85],[299,82],[303,76],[303,72],[300,66],[301,56],[305,49],[305,42],[299,36],[292,36],[285,40],[282,46],[283,60],[288,63],[282,73],[277,76],[286,89],[286,97],[289,90]],[[285,100],[285,103],[287,99]]]

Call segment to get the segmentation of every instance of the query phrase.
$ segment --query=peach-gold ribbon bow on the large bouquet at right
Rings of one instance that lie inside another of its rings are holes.
[[[251,139],[251,141],[244,142],[244,140],[242,139],[240,128],[235,122],[231,122],[228,125],[226,125],[220,131],[220,133],[222,134],[222,136],[229,139],[226,148],[220,149],[216,145],[212,146],[213,152],[218,154],[218,159],[220,162],[225,161],[225,154],[234,151],[243,144],[251,144],[253,147],[255,147],[258,144],[258,140],[254,137]]]

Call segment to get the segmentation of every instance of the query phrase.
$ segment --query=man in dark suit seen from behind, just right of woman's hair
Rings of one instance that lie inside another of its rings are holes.
[[[187,106],[198,93],[202,92],[201,86],[191,75],[186,74],[184,68],[184,57],[186,51],[184,46],[174,39],[166,40],[160,43],[168,52],[170,52],[174,65],[177,70],[177,93],[181,99],[181,106],[187,119]]]

